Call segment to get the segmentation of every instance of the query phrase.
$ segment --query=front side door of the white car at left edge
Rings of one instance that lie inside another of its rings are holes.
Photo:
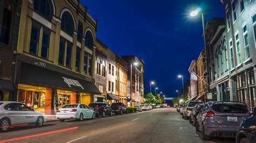
[[[24,123],[36,123],[38,115],[36,115],[36,112],[33,111],[31,108],[26,106],[25,104],[18,103],[19,109],[22,112],[22,120]]]

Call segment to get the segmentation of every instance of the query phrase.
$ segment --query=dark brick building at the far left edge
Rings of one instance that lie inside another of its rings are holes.
[[[14,101],[15,59],[21,1],[0,1],[0,101]]]

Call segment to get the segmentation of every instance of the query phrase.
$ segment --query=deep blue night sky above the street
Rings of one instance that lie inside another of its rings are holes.
[[[118,55],[136,55],[145,61],[144,88],[150,80],[166,96],[177,96],[183,74],[204,46],[201,17],[191,18],[201,6],[205,20],[224,17],[220,0],[86,0],[90,15],[98,20],[97,38]]]

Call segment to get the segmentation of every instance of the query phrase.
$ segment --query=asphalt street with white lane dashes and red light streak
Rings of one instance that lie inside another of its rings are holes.
[[[84,121],[54,121],[43,127],[15,127],[0,133],[10,142],[205,142],[201,133],[173,108]],[[207,142],[234,142],[213,138]]]

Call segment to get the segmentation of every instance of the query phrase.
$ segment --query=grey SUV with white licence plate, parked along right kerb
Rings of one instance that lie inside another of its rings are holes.
[[[196,131],[203,140],[211,137],[235,137],[241,122],[250,116],[243,102],[207,102],[198,114]]]

